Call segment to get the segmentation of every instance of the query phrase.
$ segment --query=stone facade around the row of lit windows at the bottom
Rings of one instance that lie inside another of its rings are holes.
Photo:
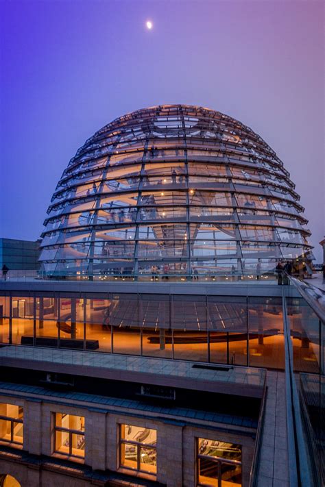
[[[69,487],[91,484],[126,485],[125,481],[119,483],[118,479],[110,482],[109,473],[114,472],[128,475],[128,485],[138,485],[139,482],[141,485],[141,478],[144,478],[147,481],[152,480],[152,485],[195,487],[197,438],[224,440],[242,445],[243,487],[249,483],[254,451],[252,428],[234,428],[231,425],[226,428],[225,425],[202,420],[194,423],[186,419],[186,416],[176,421],[173,417],[157,416],[145,410],[125,408],[125,411],[121,411],[121,408],[116,408],[108,411],[99,403],[73,405],[67,401],[55,401],[53,396],[49,402],[46,397],[17,399],[1,395],[0,403],[22,405],[24,408],[23,449],[3,449],[5,443],[0,444],[0,474],[12,475],[22,487],[54,487],[62,482]],[[63,455],[53,453],[55,412],[85,417],[84,460],[66,462]],[[123,423],[157,430],[156,478],[132,473],[119,466],[119,425]],[[25,457],[22,458],[23,455]],[[34,458],[34,462],[26,460],[29,457]],[[51,460],[56,460],[56,464],[51,464]],[[101,473],[98,479],[90,478],[94,471]]]

